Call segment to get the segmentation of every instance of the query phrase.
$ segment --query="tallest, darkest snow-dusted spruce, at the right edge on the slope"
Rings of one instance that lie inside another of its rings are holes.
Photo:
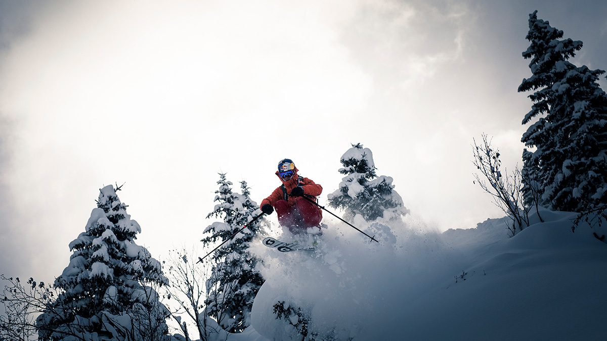
[[[581,41],[561,39],[563,31],[529,15],[532,76],[519,92],[534,90],[534,102],[523,124],[540,117],[521,141],[535,152],[523,152],[525,197],[532,184],[540,188],[540,204],[555,211],[586,211],[607,203],[607,96],[597,84],[603,70],[577,67],[568,61]]]

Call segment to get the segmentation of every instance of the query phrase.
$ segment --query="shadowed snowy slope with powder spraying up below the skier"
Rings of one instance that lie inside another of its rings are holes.
[[[440,233],[407,216],[366,226],[358,218],[379,243],[327,218],[316,254],[254,243],[266,282],[252,326],[227,340],[301,340],[273,314],[279,301],[307,312],[317,339],[606,339],[607,244],[592,235],[606,231],[572,233],[575,214],[540,213],[544,223],[534,215],[515,237],[505,219]]]

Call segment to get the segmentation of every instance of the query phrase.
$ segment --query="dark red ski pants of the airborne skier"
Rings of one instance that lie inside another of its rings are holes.
[[[280,225],[287,226],[293,234],[305,232],[312,226],[318,226],[322,220],[320,209],[305,199],[297,200],[293,206],[289,206],[285,200],[279,200],[274,204],[274,209],[276,209]]]

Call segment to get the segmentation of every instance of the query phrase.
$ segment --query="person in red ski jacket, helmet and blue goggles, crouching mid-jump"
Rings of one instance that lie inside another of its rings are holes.
[[[265,214],[271,214],[276,209],[280,225],[287,226],[293,234],[322,234],[320,220],[322,211],[314,203],[304,198],[316,201],[316,196],[322,192],[322,186],[314,181],[300,177],[297,167],[288,158],[278,163],[277,177],[282,185],[262,200],[261,209]]]

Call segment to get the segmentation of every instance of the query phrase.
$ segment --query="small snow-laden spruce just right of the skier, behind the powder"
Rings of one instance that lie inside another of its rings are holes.
[[[348,219],[360,214],[367,221],[399,218],[409,212],[394,190],[393,179],[376,175],[370,149],[352,144],[340,161],[344,167],[339,172],[346,176],[339,189],[327,196],[329,206],[344,210]]]

